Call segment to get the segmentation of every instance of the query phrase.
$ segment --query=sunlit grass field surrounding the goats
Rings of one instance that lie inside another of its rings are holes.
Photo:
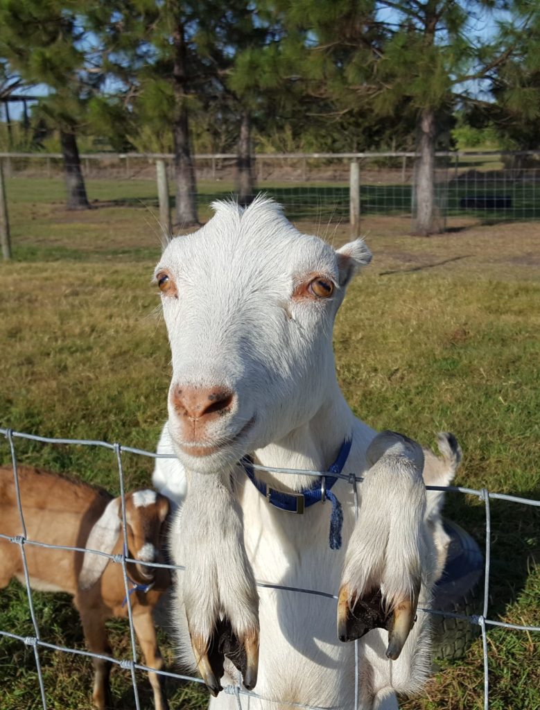
[[[150,285],[160,230],[145,204],[148,183],[89,182],[98,209],[66,212],[62,185],[9,183],[13,261],[0,264],[0,426],[52,437],[106,439],[153,449],[165,419],[170,354]],[[208,194],[210,190],[207,191]],[[204,200],[201,197],[201,200]],[[202,212],[207,217],[208,212]],[[341,244],[345,225],[301,223]],[[353,410],[378,428],[434,444],[456,433],[457,483],[540,498],[540,224],[480,226],[456,220],[448,234],[407,234],[408,219],[374,216],[362,227],[375,259],[351,287],[335,331],[341,386]],[[103,449],[17,442],[18,459],[69,471],[118,491]],[[0,461],[9,461],[0,441]],[[128,487],[148,484],[151,461],[126,456]],[[492,501],[490,618],[540,626],[538,508]],[[447,496],[446,514],[483,545],[483,504]],[[84,648],[67,596],[35,593],[43,639]],[[478,613],[480,613],[478,609]],[[26,593],[0,593],[0,628],[32,635]],[[126,624],[111,623],[128,657]],[[490,708],[540,708],[540,638],[489,630]],[[167,662],[172,647],[162,638]],[[48,705],[89,705],[92,665],[40,652]],[[133,707],[128,672],[112,674],[116,707]],[[148,681],[139,689],[150,706]],[[170,682],[175,709],[206,706],[206,692]],[[41,707],[33,650],[0,640],[0,707]],[[406,710],[483,707],[480,640],[445,662]]]

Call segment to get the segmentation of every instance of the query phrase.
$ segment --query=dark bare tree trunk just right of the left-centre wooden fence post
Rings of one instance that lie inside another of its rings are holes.
[[[175,109],[172,119],[172,138],[175,151],[176,211],[175,225],[199,224],[197,217],[197,185],[189,144],[189,119],[186,95],[186,45],[184,26],[177,23],[172,35],[174,63],[172,80],[174,84]]]

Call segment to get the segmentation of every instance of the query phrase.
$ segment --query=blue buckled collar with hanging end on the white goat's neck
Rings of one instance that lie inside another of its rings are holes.
[[[346,464],[348,454],[351,452],[351,444],[352,439],[345,439],[343,444],[341,444],[341,449],[339,450],[336,461],[334,461],[328,469],[329,474],[341,474],[343,466]],[[343,510],[341,509],[341,503],[330,490],[338,480],[337,476],[321,476],[318,483],[312,488],[304,488],[303,491],[299,491],[298,493],[285,493],[285,491],[271,488],[263,483],[263,481],[259,481],[255,477],[253,461],[249,457],[243,457],[241,464],[244,471],[246,471],[246,476],[248,476],[248,479],[250,479],[259,493],[265,496],[265,498],[268,498],[268,503],[270,503],[271,506],[279,508],[280,510],[287,510],[288,513],[298,513],[302,515],[305,508],[309,508],[309,506],[313,506],[314,503],[319,503],[319,501],[324,503],[326,498],[328,498],[332,503],[329,544],[331,550],[339,550],[341,547]]]

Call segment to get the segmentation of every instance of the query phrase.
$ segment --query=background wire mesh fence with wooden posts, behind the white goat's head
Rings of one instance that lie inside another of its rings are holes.
[[[60,153],[0,153],[7,178],[62,179]],[[173,156],[167,153],[83,153],[89,182],[146,182],[138,202],[157,202],[155,161],[165,160],[171,190]],[[233,153],[194,155],[199,209],[238,190],[238,157]],[[265,153],[253,155],[253,191],[265,191],[290,219],[347,222],[351,212],[351,162],[358,163],[360,215],[405,217],[416,212],[414,152]],[[125,202],[133,192],[126,191]],[[439,226],[447,220],[509,222],[540,219],[540,151],[444,151],[436,153],[434,209]]]

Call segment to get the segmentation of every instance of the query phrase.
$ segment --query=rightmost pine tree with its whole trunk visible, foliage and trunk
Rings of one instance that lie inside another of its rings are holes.
[[[505,0],[285,0],[287,23],[303,31],[302,77],[309,92],[343,113],[413,121],[417,133],[413,229],[439,229],[434,169],[441,126],[512,45],[475,31]]]

